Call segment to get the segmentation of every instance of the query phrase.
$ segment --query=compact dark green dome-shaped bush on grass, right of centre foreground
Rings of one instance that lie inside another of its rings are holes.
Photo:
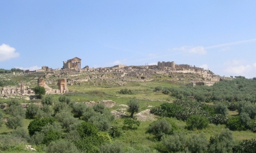
[[[208,119],[206,119],[206,117],[202,117],[198,115],[189,116],[187,118],[186,123],[187,123],[188,130],[193,130],[194,128],[202,129],[202,128],[208,127],[209,125],[209,121]]]

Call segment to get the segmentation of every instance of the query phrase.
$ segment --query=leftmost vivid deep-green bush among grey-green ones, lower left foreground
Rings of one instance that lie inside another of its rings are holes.
[[[42,130],[43,127],[47,124],[52,124],[56,121],[53,117],[45,117],[42,119],[36,118],[31,121],[28,125],[28,133],[30,136],[34,135],[35,132],[39,132]]]

